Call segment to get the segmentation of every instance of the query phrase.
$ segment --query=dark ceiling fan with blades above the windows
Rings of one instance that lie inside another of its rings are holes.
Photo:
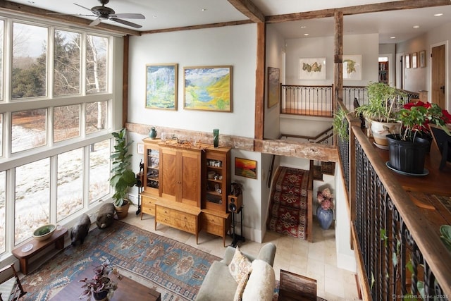
[[[89,24],[89,26],[95,26],[99,25],[101,23],[101,20],[112,20],[114,22],[118,22],[124,25],[128,25],[135,28],[141,28],[142,26],[136,23],[129,22],[124,19],[145,19],[141,13],[116,13],[113,8],[106,7],[105,4],[109,3],[109,0],[99,0],[101,6],[94,6],[93,8],[87,8],[85,6],[81,6],[80,4],[74,3],[76,6],[80,6],[81,8],[85,8],[88,11],[91,11],[93,15],[82,15],[78,14],[75,16],[87,16],[87,17],[97,17],[92,23]]]

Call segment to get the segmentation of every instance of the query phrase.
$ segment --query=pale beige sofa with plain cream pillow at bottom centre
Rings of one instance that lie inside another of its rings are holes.
[[[227,247],[224,259],[211,264],[199,293],[197,293],[197,301],[226,301],[234,299],[238,283],[230,275],[228,269],[234,254],[235,248]],[[245,254],[245,252],[243,254],[252,262],[252,272],[242,293],[242,300],[257,300],[256,295],[260,296],[258,300],[272,300],[273,290],[276,285],[272,268],[276,255],[276,245],[272,242],[267,243],[261,247],[257,257]],[[264,266],[265,264],[266,266]]]

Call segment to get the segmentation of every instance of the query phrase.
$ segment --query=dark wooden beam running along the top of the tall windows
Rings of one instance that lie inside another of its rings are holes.
[[[16,2],[11,1],[0,1],[0,11],[13,14],[20,13],[20,15],[31,16],[35,18],[44,18],[45,20],[54,20],[66,24],[71,23],[83,27],[89,27],[89,24],[92,22],[92,20],[87,20],[85,18],[68,15],[58,15],[54,11],[47,11],[46,9],[37,8],[35,6],[27,6],[24,4],[18,4]],[[97,30],[106,30],[108,32],[118,33],[121,35],[140,35],[140,32],[137,30],[130,30],[125,27],[119,27],[105,23],[100,23],[99,25],[93,28]]]

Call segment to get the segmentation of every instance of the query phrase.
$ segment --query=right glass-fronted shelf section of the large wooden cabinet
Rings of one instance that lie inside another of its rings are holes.
[[[206,185],[202,209],[227,211],[230,192],[230,148],[218,147],[206,150]]]

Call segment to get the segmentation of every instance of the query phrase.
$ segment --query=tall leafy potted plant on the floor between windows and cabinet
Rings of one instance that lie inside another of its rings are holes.
[[[114,151],[110,158],[113,160],[111,168],[110,185],[114,188],[114,206],[119,219],[128,216],[130,199],[127,199],[128,189],[137,184],[135,173],[130,169],[132,154],[128,153],[128,148],[132,141],[127,142],[127,130],[123,128],[118,133],[112,133],[114,137]]]

